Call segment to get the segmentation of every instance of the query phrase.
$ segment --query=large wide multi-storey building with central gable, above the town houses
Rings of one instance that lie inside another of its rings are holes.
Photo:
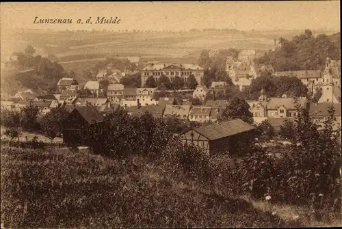
[[[148,77],[153,76],[158,82],[162,75],[168,77],[170,81],[174,77],[181,77],[184,82],[187,81],[190,75],[194,75],[197,83],[202,84],[204,69],[197,64],[148,64],[141,71],[142,87],[144,87]]]

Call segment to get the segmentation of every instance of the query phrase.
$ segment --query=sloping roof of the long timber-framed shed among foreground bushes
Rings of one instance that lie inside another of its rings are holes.
[[[194,131],[204,135],[209,140],[221,139],[238,133],[252,131],[255,127],[240,119],[219,122],[218,124],[208,124],[194,128]]]

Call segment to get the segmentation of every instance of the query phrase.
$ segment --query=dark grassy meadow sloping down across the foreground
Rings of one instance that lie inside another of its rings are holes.
[[[5,228],[301,226],[200,189],[135,157],[1,147]]]

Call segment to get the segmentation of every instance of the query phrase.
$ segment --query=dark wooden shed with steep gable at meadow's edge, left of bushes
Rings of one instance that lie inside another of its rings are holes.
[[[70,146],[89,146],[92,133],[104,120],[96,107],[75,107],[63,122],[63,142]]]

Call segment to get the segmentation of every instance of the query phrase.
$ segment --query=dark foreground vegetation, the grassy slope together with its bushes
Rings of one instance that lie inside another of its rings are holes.
[[[333,113],[320,133],[300,110],[281,159],[259,147],[244,158],[209,157],[183,146],[163,120],[120,109],[93,130],[90,153],[2,147],[1,221],[10,228],[337,226],[341,146]],[[280,209],[241,195],[304,211],[285,220]]]

